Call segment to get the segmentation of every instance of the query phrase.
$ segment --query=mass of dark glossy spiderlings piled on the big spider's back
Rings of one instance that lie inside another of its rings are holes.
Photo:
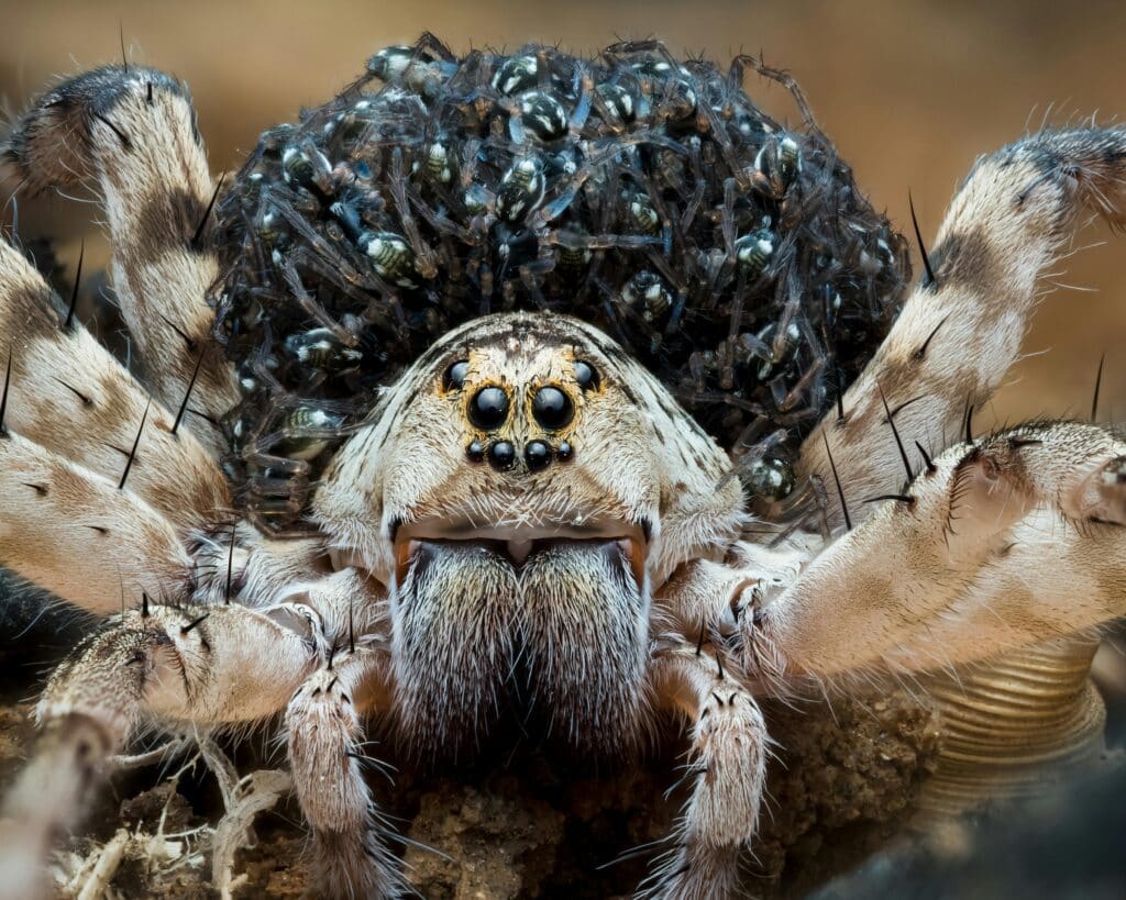
[[[449,328],[546,309],[623,343],[780,498],[899,308],[904,242],[812,124],[655,42],[388,47],[266,132],[218,207],[216,334],[251,513],[287,523],[381,387]],[[785,79],[783,79],[785,80]]]

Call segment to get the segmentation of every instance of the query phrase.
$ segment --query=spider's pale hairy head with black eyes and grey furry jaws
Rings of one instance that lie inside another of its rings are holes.
[[[476,740],[511,682],[577,744],[633,741],[651,579],[744,521],[727,457],[682,415],[617,343],[558,315],[476,320],[408,369],[313,513],[391,585],[406,734]]]

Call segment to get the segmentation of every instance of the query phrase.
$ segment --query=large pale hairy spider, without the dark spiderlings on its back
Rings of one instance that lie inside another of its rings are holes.
[[[213,422],[236,396],[205,299],[216,189],[184,88],[136,66],[81,75],[24,117],[9,156],[33,191],[96,187],[145,379],[0,243],[0,560],[105,619],[38,702],[0,825],[5,898],[44,890],[53,838],[140,731],[271,717],[316,890],[404,892],[365,717],[394,710],[423,753],[464,747],[517,665],[580,747],[685,717],[691,799],[641,890],[732,894],[762,806],[759,699],[959,666],[1126,611],[1126,441],[969,424],[1076,220],[1126,226],[1126,129],[1043,130],[977,162],[928,277],[801,449],[822,528],[780,541],[665,387],[548,313],[438,341],[315,485],[316,533],[265,536],[217,462]]]

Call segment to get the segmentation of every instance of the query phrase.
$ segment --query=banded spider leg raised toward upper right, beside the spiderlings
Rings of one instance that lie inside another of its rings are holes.
[[[824,484],[831,524],[844,515],[829,454],[856,524],[874,511],[864,498],[904,483],[888,411],[915,469],[915,441],[956,440],[967,404],[989,399],[1016,361],[1042,272],[1092,212],[1126,225],[1126,128],[1040,132],[977,162],[930,253],[935,280],[908,299],[843,417],[831,413],[802,447],[799,474]]]

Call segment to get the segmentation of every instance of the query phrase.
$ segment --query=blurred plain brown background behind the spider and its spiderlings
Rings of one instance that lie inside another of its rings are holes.
[[[908,188],[923,234],[974,158],[1036,127],[1126,114],[1126,3],[1120,0],[900,0],[780,3],[733,0],[406,0],[357,2],[19,2],[0,0],[0,99],[21,110],[51,79],[120,60],[189,81],[215,171],[238,165],[266,126],[328,99],[366,57],[425,29],[457,51],[558,42],[593,52],[617,38],[663,38],[674,52],[726,60],[762,51],[789,69],[877,207],[910,230]],[[771,110],[796,117],[783,91],[749,81]],[[2,199],[7,199],[5,191]],[[20,231],[77,241],[92,208],[61,199],[19,206]],[[10,220],[10,208],[5,220]],[[1103,226],[1070,259],[1026,341],[1029,353],[985,417],[1085,415],[1107,353],[1101,417],[1126,417],[1124,245]],[[917,268],[918,267],[917,264]]]

